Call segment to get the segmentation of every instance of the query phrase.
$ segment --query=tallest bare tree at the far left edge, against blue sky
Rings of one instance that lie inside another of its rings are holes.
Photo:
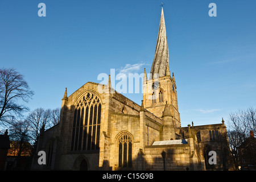
[[[10,123],[15,115],[27,111],[28,108],[19,101],[28,102],[33,94],[15,69],[0,69],[0,124]]]

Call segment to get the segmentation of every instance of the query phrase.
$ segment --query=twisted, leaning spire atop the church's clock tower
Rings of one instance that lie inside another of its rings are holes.
[[[156,42],[155,57],[151,67],[150,79],[156,77],[170,76],[169,68],[169,50],[166,36],[166,23],[164,22],[164,13],[162,7],[162,13],[160,18],[160,25],[158,31],[158,40]],[[158,75],[155,75],[158,74]]]

